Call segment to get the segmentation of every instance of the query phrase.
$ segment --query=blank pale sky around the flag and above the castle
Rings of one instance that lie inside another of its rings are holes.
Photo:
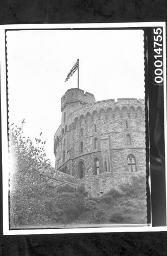
[[[9,124],[21,124],[34,139],[42,132],[55,166],[54,134],[61,124],[61,97],[77,87],[96,101],[145,98],[142,30],[23,30],[7,32]]]

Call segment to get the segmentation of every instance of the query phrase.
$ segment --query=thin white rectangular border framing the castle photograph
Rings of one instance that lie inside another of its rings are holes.
[[[132,231],[166,231],[167,227],[98,227],[98,228],[54,228],[54,229],[22,229],[9,230],[8,220],[8,134],[7,134],[7,103],[6,103],[6,56],[5,56],[5,29],[63,29],[63,28],[138,28],[138,27],[163,27],[163,74],[164,74],[164,120],[166,120],[166,38],[165,22],[131,22],[108,24],[27,24],[27,25],[2,25],[0,26],[0,64],[1,64],[1,114],[2,114],[2,165],[3,165],[3,226],[4,235],[27,234],[63,234],[63,233],[89,233],[89,232],[132,232]],[[164,123],[165,149],[167,147],[167,123]],[[167,153],[165,150],[165,159]],[[167,191],[167,182],[166,182]],[[167,216],[166,216],[167,218]]]

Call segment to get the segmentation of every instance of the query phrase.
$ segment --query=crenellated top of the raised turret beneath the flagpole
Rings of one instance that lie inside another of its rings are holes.
[[[83,105],[91,104],[95,102],[94,95],[90,94],[90,92],[85,92],[78,88],[68,89],[63,97],[61,98],[61,111],[65,108],[65,106],[69,103],[79,102]]]

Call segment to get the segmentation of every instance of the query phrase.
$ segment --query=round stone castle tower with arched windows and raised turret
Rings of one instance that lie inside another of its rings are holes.
[[[146,175],[145,100],[96,102],[73,88],[61,98],[61,112],[54,175],[63,173],[65,179],[58,185],[83,184],[90,196],[100,196],[132,175]]]

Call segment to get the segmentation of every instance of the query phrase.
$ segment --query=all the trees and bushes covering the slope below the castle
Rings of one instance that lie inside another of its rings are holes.
[[[88,197],[83,185],[57,191],[49,182],[50,161],[44,144],[23,136],[22,127],[10,127],[10,226],[57,226],[64,224],[146,223],[146,179],[133,176],[121,191],[111,189],[101,197]],[[43,170],[46,170],[43,171]]]

